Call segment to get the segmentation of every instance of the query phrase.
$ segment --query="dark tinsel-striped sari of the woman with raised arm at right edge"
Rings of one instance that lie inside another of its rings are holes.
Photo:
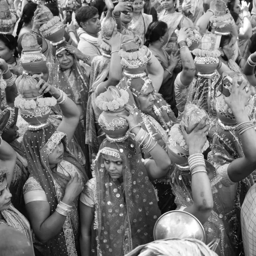
[[[227,169],[227,164],[244,156],[237,130],[227,131],[216,124],[212,125],[210,133],[213,134],[213,138],[212,151],[208,154],[208,160],[216,166],[217,172],[222,172],[224,168]],[[239,183],[218,188],[222,202],[222,214],[226,217],[224,219],[225,228],[237,252],[243,250],[240,229],[241,205],[252,183],[252,176],[249,175]]]

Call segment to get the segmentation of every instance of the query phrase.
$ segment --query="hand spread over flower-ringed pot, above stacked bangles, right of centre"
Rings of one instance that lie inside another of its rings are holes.
[[[182,134],[186,145],[189,147],[189,154],[202,152],[202,148],[207,141],[208,130],[207,116],[204,116],[189,134],[186,132],[185,127],[182,126]]]

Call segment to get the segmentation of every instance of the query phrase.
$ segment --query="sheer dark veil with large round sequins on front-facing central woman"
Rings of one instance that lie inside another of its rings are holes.
[[[121,157],[123,186],[108,174],[103,154]],[[134,140],[128,138],[122,143],[104,140],[94,171],[98,255],[122,256],[138,245],[153,241],[153,227],[160,210]]]

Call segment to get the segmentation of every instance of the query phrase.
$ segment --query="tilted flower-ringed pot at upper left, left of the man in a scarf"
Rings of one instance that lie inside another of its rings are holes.
[[[39,29],[42,36],[52,42],[63,40],[65,28],[61,19],[58,16],[53,17],[46,6],[40,5],[38,8],[40,9],[38,13],[46,12],[44,16],[47,17],[47,23],[44,23]]]

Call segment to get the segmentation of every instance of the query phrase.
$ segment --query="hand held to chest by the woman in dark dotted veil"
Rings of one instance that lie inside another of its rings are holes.
[[[65,200],[62,201],[66,204],[71,205],[76,197],[78,197],[83,190],[84,184],[76,172],[75,176],[71,177],[70,181],[67,183],[64,195]]]

